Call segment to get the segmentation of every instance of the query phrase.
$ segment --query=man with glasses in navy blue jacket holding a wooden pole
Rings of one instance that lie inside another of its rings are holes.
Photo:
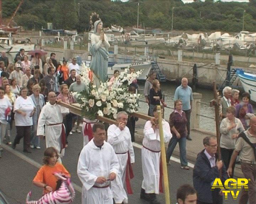
[[[203,139],[205,149],[197,155],[193,170],[193,184],[197,191],[197,204],[222,204],[222,192],[219,188],[211,191],[213,181],[219,177],[222,171],[222,182],[228,179],[226,168],[222,160],[218,160],[217,139],[207,136]]]

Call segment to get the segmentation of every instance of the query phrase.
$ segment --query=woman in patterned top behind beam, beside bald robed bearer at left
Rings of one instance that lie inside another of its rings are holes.
[[[60,94],[57,96],[57,99],[60,99],[62,102],[68,103],[68,104],[75,102],[73,96],[69,94],[68,85],[66,84],[62,84],[60,86]],[[63,123],[65,125],[65,133],[66,133],[66,147],[68,147],[68,135],[72,130],[73,118],[74,118],[74,114],[72,113],[67,114],[65,118],[63,118]]]

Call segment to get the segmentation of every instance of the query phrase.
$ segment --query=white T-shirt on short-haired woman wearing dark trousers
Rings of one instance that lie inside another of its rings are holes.
[[[15,113],[14,120],[16,126],[30,126],[33,124],[32,117],[30,117],[31,112],[34,110],[34,102],[32,98],[27,97],[24,99],[19,96],[14,103],[14,111],[21,110],[26,113],[26,116],[20,113]]]

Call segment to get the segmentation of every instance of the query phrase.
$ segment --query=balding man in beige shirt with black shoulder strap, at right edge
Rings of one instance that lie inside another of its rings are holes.
[[[244,178],[250,179],[248,182],[249,191],[242,188],[239,204],[256,203],[256,117],[251,117],[250,128],[241,132],[236,140],[235,150],[231,156],[228,167],[228,174],[233,175],[232,166],[235,163],[236,157],[239,154],[241,159],[241,169]]]

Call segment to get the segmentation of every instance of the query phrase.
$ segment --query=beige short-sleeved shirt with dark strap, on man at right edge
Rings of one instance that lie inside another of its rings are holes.
[[[256,145],[256,137],[252,136],[248,130],[244,131],[246,137],[252,144]],[[240,152],[239,157],[241,161],[255,162],[254,150],[242,137],[239,137],[236,141],[235,151]]]

